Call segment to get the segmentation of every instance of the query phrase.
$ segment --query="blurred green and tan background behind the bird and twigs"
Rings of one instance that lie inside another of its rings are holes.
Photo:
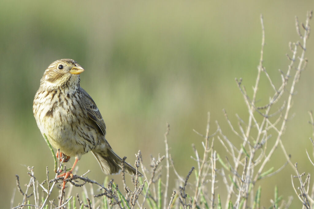
[[[51,153],[37,128],[32,102],[46,67],[61,58],[76,60],[85,68],[81,86],[95,100],[107,125],[107,139],[120,156],[134,162],[140,149],[144,163],[150,154],[165,153],[168,137],[178,172],[185,176],[195,162],[191,144],[201,149],[207,112],[228,134],[222,109],[236,125],[236,113],[247,118],[235,77],[251,92],[261,48],[260,14],[264,16],[266,46],[264,66],[277,85],[278,69],[286,71],[289,41],[298,40],[295,15],[304,22],[313,1],[9,1],[0,0],[0,202],[8,208],[15,184],[28,182],[27,166],[35,166],[40,182]],[[313,22],[311,23],[313,25]],[[292,162],[300,171],[312,172],[305,149],[311,151],[307,111],[314,109],[313,36],[307,44],[309,64],[302,72],[294,97],[291,120],[283,137]],[[268,81],[262,77],[267,89]],[[262,91],[261,105],[272,95]],[[234,137],[234,135],[231,135]],[[217,141],[218,142],[218,141]],[[215,149],[222,150],[219,143]],[[285,159],[278,149],[267,166],[279,168]],[[72,165],[73,159],[70,160]],[[132,163],[133,164],[133,163]],[[104,175],[92,154],[82,157],[80,173],[89,178]],[[270,206],[274,185],[279,194],[293,195],[293,170],[261,181],[262,203]],[[121,176],[112,176],[118,182]],[[171,178],[175,178],[171,172]],[[194,178],[193,178],[194,179]],[[174,185],[173,185],[174,186]],[[177,188],[176,188],[177,189]],[[224,191],[225,186],[220,184]],[[219,191],[220,191],[219,190]],[[223,193],[220,194],[222,197]],[[15,205],[21,201],[16,194]]]

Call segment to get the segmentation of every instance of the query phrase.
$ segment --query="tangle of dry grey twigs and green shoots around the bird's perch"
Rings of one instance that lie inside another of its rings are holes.
[[[263,65],[265,29],[263,17],[261,16],[262,50],[252,94],[248,94],[245,86],[243,86],[242,79],[236,79],[236,84],[243,95],[249,113],[248,118],[236,114],[238,122],[237,125],[234,125],[229,119],[227,111],[224,110],[229,125],[227,128],[231,129],[233,133],[232,136],[228,136],[228,134],[225,134],[226,127],[221,127],[218,122],[216,122],[217,128],[214,131],[210,129],[210,114],[208,113],[205,134],[194,130],[203,138],[203,148],[197,150],[196,146],[192,145],[194,151],[192,159],[195,160],[195,166],[192,169],[186,169],[185,178],[177,172],[169,153],[168,136],[170,126],[167,124],[164,136],[165,155],[151,157],[149,167],[145,167],[141,152],[138,151],[138,154],[136,154],[135,168],[137,171],[141,168],[143,177],[138,175],[132,177],[133,189],[126,184],[124,163],[122,162],[123,189],[121,191],[118,185],[114,183],[114,180],[105,180],[105,183],[102,184],[88,179],[85,177],[89,172],[87,171],[83,175],[73,175],[72,178],[68,178],[66,182],[69,186],[62,192],[58,184],[63,179],[57,176],[60,171],[66,170],[66,167],[63,165],[64,159],[57,165],[57,159],[55,158],[55,172],[57,173],[53,179],[49,179],[47,168],[47,179],[39,183],[35,178],[34,168],[29,167],[30,181],[24,189],[20,186],[19,176],[16,175],[17,188],[22,195],[22,201],[14,208],[25,206],[33,208],[76,208],[76,206],[79,206],[80,208],[170,209],[222,208],[223,204],[225,208],[260,208],[261,186],[254,188],[256,183],[261,179],[276,175],[286,165],[290,165],[295,169],[296,175],[291,176],[292,184],[303,207],[312,208],[314,206],[314,186],[310,191],[310,174],[305,176],[304,173],[299,173],[297,164],[291,162],[290,156],[286,152],[283,138],[284,130],[287,127],[286,122],[291,117],[290,109],[295,88],[300,81],[301,72],[305,70],[307,64],[305,53],[306,42],[310,34],[309,22],[311,17],[312,12],[308,12],[305,24],[301,24],[302,28],[298,18],[295,19],[296,31],[300,40],[289,44],[291,50],[290,55],[287,54],[289,65],[285,71],[279,70],[281,82],[276,85],[277,82],[269,76],[266,67]],[[262,75],[266,77],[266,82],[271,86],[272,92],[270,95],[258,94]],[[263,98],[264,100],[269,98],[268,102],[257,105],[257,101]],[[314,137],[314,120],[311,113],[310,116]],[[235,138],[240,140],[240,143],[236,143]],[[47,143],[49,145],[48,141]],[[214,145],[215,148],[218,146],[224,148],[225,153],[219,154],[214,149]],[[273,159],[273,154],[278,148],[283,151],[286,162],[280,168],[266,170],[266,165]],[[52,148],[51,152],[54,156]],[[125,158],[123,158],[124,160]],[[314,166],[313,162],[312,165]],[[175,181],[170,179],[172,171],[177,182],[174,190],[169,188],[170,180]],[[195,182],[191,180],[192,175],[196,177]],[[164,183],[161,177],[164,177]],[[298,179],[300,182],[300,186],[297,188],[295,188],[294,179]],[[97,191],[90,191],[93,199],[86,196],[80,199],[78,194],[72,194],[73,187],[81,187],[84,191],[83,194],[86,194],[87,184],[97,185],[99,188]],[[218,187],[220,189],[219,193],[224,197],[223,199],[218,194]],[[225,191],[222,191],[223,188],[225,188]],[[54,199],[55,197],[51,197],[51,192],[57,189],[59,189],[59,195]],[[284,201],[284,198],[279,196],[277,187],[274,189],[275,195],[274,199],[271,200],[271,207],[288,208],[292,198],[288,197],[287,201]],[[40,192],[40,190],[43,192]],[[170,191],[172,191],[172,194],[170,194]],[[39,194],[42,194],[41,198]]]

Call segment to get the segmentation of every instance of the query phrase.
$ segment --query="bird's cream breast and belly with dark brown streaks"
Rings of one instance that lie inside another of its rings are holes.
[[[78,92],[37,92],[33,112],[41,133],[51,145],[73,156],[87,153],[99,143],[98,133],[88,124]]]

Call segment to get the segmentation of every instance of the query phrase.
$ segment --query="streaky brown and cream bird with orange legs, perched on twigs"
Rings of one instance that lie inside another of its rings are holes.
[[[41,131],[49,143],[58,149],[57,157],[66,155],[66,161],[75,157],[70,171],[83,154],[91,151],[105,174],[121,171],[122,159],[106,140],[106,124],[92,97],[80,86],[81,65],[72,59],[52,62],[40,80],[35,94],[33,113]],[[60,153],[59,153],[60,150]],[[127,173],[142,174],[124,162]],[[65,182],[63,182],[65,183]],[[64,187],[64,185],[63,185]]]

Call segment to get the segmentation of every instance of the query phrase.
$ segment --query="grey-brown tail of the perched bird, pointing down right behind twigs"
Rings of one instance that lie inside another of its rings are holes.
[[[118,174],[121,171],[122,159],[112,150],[107,149],[106,151],[92,151],[95,158],[98,160],[98,163],[101,167],[101,170],[105,174]],[[136,169],[133,168],[130,164],[124,162],[124,169],[129,174],[136,174]],[[138,171],[138,175],[142,174]]]

